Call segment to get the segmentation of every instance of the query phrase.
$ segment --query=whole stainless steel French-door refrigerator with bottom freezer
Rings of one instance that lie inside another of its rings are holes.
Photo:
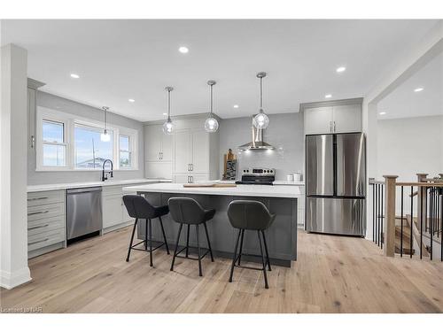
[[[364,134],[307,135],[306,190],[308,232],[364,236]]]

